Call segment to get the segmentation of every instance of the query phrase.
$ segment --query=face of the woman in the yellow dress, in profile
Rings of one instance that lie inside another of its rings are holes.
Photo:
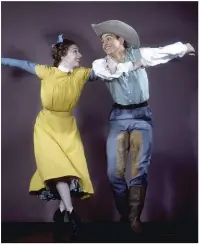
[[[82,55],[79,53],[78,47],[73,44],[69,46],[67,54],[61,58],[62,63],[69,69],[79,67]]]

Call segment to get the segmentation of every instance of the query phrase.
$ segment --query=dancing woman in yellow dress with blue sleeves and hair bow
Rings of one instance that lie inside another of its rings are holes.
[[[37,170],[29,192],[43,200],[60,199],[54,221],[70,222],[72,232],[80,226],[71,195],[81,198],[94,193],[88,173],[84,149],[72,110],[76,106],[84,84],[94,80],[92,69],[79,67],[78,46],[59,35],[52,48],[53,66],[38,65],[24,60],[2,58],[3,65],[21,68],[41,80],[41,101],[34,126],[34,153]]]

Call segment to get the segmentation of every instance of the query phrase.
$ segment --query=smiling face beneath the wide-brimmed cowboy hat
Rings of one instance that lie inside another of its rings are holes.
[[[118,38],[113,34],[107,33],[101,36],[102,48],[107,55],[115,53],[121,45],[123,45],[123,38]]]

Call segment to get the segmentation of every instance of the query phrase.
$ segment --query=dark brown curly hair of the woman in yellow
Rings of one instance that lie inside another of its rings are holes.
[[[67,54],[67,51],[71,45],[76,43],[74,41],[63,39],[62,43],[57,43],[52,48],[52,58],[53,58],[53,66],[58,67],[61,62],[61,57]]]

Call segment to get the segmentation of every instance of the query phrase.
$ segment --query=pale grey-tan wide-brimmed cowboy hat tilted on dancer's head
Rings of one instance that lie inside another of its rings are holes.
[[[101,37],[105,33],[111,33],[123,37],[128,47],[139,48],[140,40],[137,32],[126,23],[119,20],[108,20],[99,24],[92,24],[97,36]]]

